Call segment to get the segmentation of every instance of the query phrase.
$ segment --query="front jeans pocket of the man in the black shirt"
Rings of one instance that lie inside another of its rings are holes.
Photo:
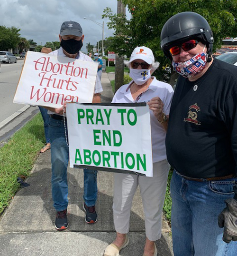
[[[231,195],[234,194],[235,180],[210,180],[210,190],[217,194]]]

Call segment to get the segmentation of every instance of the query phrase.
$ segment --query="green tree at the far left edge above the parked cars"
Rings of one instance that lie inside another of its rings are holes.
[[[0,50],[8,50],[17,47],[20,41],[20,29],[0,26]]]

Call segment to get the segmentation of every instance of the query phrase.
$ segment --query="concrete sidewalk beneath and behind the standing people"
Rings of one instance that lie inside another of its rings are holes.
[[[106,73],[102,74],[102,102],[113,96]],[[55,209],[51,197],[50,150],[41,154],[27,178],[29,187],[18,191],[0,219],[0,256],[102,256],[115,238],[113,225],[113,174],[98,172],[98,221],[89,225],[82,209],[83,171],[68,168],[69,228],[55,230]],[[169,226],[163,221],[162,238],[156,243],[158,256],[173,256]],[[139,189],[133,200],[129,245],[121,256],[142,256],[145,245],[145,223]]]

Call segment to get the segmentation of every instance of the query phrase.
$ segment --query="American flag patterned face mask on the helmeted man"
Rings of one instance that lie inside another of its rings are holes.
[[[172,61],[174,71],[185,78],[191,78],[200,73],[207,64],[207,55],[203,50],[184,62]]]

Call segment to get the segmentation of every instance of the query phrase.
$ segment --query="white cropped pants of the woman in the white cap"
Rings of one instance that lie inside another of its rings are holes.
[[[167,185],[167,160],[153,163],[153,177],[114,174],[114,226],[121,234],[129,232],[132,200],[139,185],[145,214],[146,237],[155,241],[161,238],[162,209]]]

